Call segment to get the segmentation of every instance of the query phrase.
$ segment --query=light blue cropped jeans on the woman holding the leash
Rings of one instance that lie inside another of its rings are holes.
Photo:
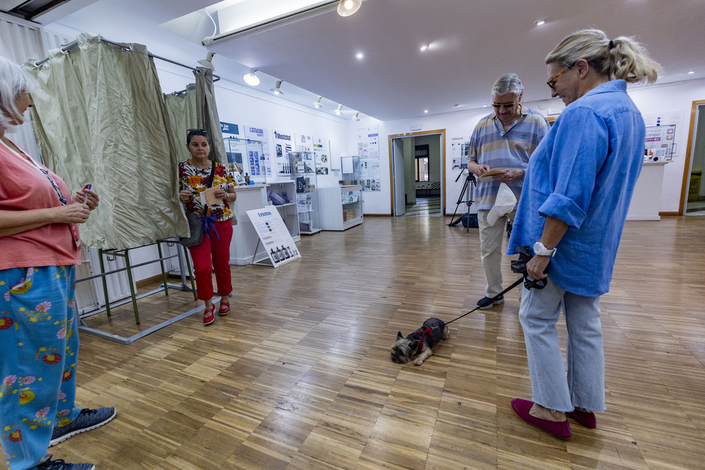
[[[558,412],[576,407],[603,412],[605,353],[600,297],[566,292],[548,277],[543,289],[524,290],[519,320],[527,345],[532,400]],[[556,323],[563,310],[568,329],[567,364],[558,343]]]

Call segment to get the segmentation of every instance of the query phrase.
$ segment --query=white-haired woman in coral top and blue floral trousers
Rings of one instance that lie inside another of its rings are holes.
[[[35,80],[0,58],[0,439],[11,469],[90,470],[51,459],[48,448],[102,426],[114,408],[75,407],[78,224],[98,206],[12,142]]]

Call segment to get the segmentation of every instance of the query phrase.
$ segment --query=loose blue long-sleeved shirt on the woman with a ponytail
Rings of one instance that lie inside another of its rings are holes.
[[[609,291],[627,210],[644,160],[644,119],[624,80],[569,104],[532,155],[507,254],[533,247],[546,216],[568,224],[548,264],[559,287]]]

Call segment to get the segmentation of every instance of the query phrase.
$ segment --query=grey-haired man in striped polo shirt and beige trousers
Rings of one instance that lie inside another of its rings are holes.
[[[515,73],[502,75],[492,87],[494,113],[482,118],[470,137],[467,170],[476,176],[491,169],[503,170],[489,181],[478,181],[474,194],[486,290],[486,297],[479,299],[477,305],[483,310],[504,302],[504,297],[490,300],[503,290],[502,239],[514,211],[498,218],[494,225],[487,222],[487,214],[494,206],[501,183],[506,183],[519,199],[529,156],[548,133],[546,118],[523,108],[522,101],[524,86],[520,78]]]

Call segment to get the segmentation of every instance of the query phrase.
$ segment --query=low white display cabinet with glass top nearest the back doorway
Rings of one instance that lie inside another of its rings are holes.
[[[323,230],[346,230],[362,223],[362,186],[324,187],[319,197]]]

